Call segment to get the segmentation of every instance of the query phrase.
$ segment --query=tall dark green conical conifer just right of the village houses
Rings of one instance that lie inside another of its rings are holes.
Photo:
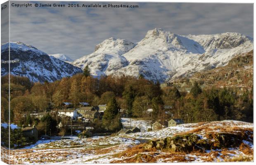
[[[119,120],[120,117],[119,117],[118,109],[120,109],[120,107],[116,102],[116,99],[112,98],[107,103],[107,107],[102,118],[102,125],[107,130],[114,131],[119,129],[121,121]]]

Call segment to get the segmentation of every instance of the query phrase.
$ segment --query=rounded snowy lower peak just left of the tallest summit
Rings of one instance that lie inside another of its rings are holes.
[[[94,76],[113,74],[116,70],[128,65],[125,57],[121,56],[135,46],[128,40],[109,38],[95,47],[95,51],[88,56],[75,60],[72,64],[84,69],[90,66]]]

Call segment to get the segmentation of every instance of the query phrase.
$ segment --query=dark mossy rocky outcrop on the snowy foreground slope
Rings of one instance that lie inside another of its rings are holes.
[[[207,133],[205,138],[197,134],[176,135],[164,139],[152,140],[145,144],[145,151],[168,149],[170,151],[190,153],[191,151],[207,151],[227,149],[239,146],[247,134],[235,134],[229,132]]]

